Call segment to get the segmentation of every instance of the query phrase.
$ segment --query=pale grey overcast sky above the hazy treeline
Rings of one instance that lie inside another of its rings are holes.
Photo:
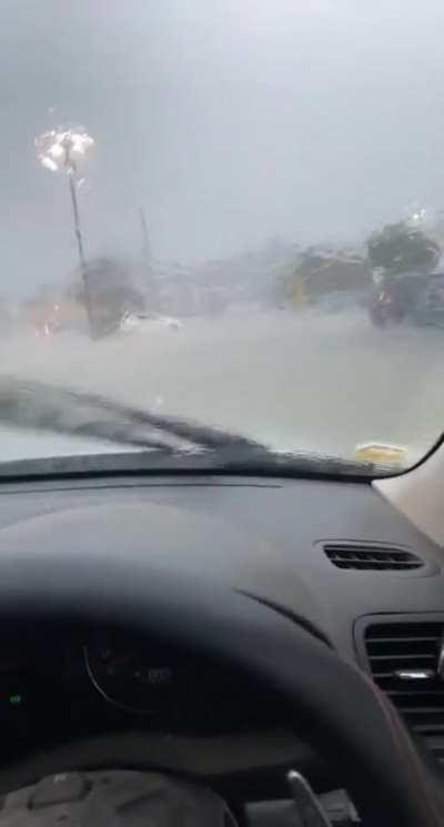
[[[33,138],[83,124],[88,254],[352,240],[444,206],[442,0],[1,0],[2,284],[75,264]]]

